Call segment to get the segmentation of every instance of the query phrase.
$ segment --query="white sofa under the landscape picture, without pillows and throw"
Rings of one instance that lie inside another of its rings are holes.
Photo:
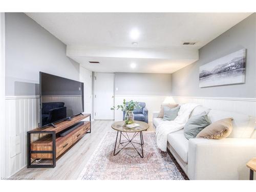
[[[191,116],[208,111],[211,122],[232,117],[233,131],[226,139],[189,139],[183,130],[168,135],[167,148],[190,180],[249,179],[246,163],[256,157],[255,117],[197,106]],[[163,121],[153,113],[155,127]]]

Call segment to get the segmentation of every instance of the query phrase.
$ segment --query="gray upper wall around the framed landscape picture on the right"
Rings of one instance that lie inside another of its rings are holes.
[[[256,97],[256,13],[199,50],[199,60],[172,74],[173,96]],[[247,51],[245,83],[199,88],[199,66],[229,53]]]

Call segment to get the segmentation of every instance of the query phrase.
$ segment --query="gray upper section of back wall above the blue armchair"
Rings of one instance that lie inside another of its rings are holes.
[[[171,74],[115,73],[116,95],[170,95]]]

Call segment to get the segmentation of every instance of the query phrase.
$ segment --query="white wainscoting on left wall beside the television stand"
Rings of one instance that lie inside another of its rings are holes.
[[[6,97],[7,177],[27,165],[27,131],[37,127],[38,122],[38,96]]]

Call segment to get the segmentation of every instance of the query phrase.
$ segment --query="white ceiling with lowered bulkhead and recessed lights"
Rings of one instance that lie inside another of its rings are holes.
[[[173,73],[198,49],[250,13],[26,13],[66,45],[67,55],[96,72]],[[137,29],[137,40],[130,37]],[[132,42],[138,45],[132,45]],[[194,46],[184,41],[197,42]],[[122,54],[119,50],[122,50]],[[178,53],[176,50],[179,50]],[[133,53],[132,53],[133,52]],[[136,53],[135,53],[136,52]],[[104,54],[102,54],[104,53]],[[130,53],[130,54],[125,54]],[[100,61],[89,64],[88,61]],[[131,62],[137,67],[131,69]]]

